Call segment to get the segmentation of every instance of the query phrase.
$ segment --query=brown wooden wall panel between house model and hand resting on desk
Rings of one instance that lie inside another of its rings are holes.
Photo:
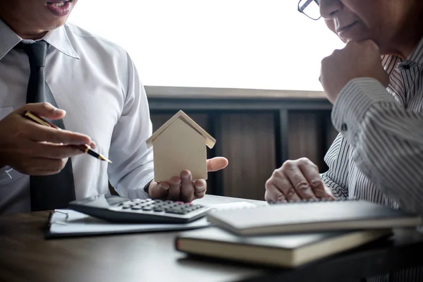
[[[274,114],[221,114],[220,144],[229,165],[223,195],[264,200],[264,183],[276,164]]]

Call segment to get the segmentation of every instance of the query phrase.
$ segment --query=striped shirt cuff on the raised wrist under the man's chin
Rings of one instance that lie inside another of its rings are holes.
[[[367,111],[376,104],[397,104],[384,85],[374,78],[355,78],[343,87],[332,109],[333,126],[355,145]]]

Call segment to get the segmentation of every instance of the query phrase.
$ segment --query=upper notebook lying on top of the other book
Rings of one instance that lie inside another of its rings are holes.
[[[214,226],[237,235],[411,227],[422,218],[364,200],[287,202],[207,214]]]

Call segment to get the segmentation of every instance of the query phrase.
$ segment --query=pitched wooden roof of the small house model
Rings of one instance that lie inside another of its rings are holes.
[[[212,149],[214,144],[216,144],[216,139],[214,139],[212,135],[209,135],[209,133],[207,133],[206,130],[202,129],[200,125],[195,123],[195,121],[193,121],[192,118],[190,118],[183,111],[178,111],[178,113],[173,115],[168,121],[166,121],[166,123],[161,125],[161,127],[158,130],[156,130],[156,132],[154,132],[151,137],[147,139],[146,141],[147,147],[149,148],[152,147],[154,139],[159,137],[159,135],[161,135],[161,133],[163,133],[164,130],[166,130],[166,128],[168,128],[172,123],[174,123],[178,119],[180,119],[181,121],[189,125],[193,130],[197,131],[197,133],[202,135],[205,139],[207,147],[209,147],[210,149]]]

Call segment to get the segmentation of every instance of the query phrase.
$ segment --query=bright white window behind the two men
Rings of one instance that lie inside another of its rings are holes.
[[[341,40],[295,0],[81,0],[69,21],[125,48],[145,85],[321,90]]]

